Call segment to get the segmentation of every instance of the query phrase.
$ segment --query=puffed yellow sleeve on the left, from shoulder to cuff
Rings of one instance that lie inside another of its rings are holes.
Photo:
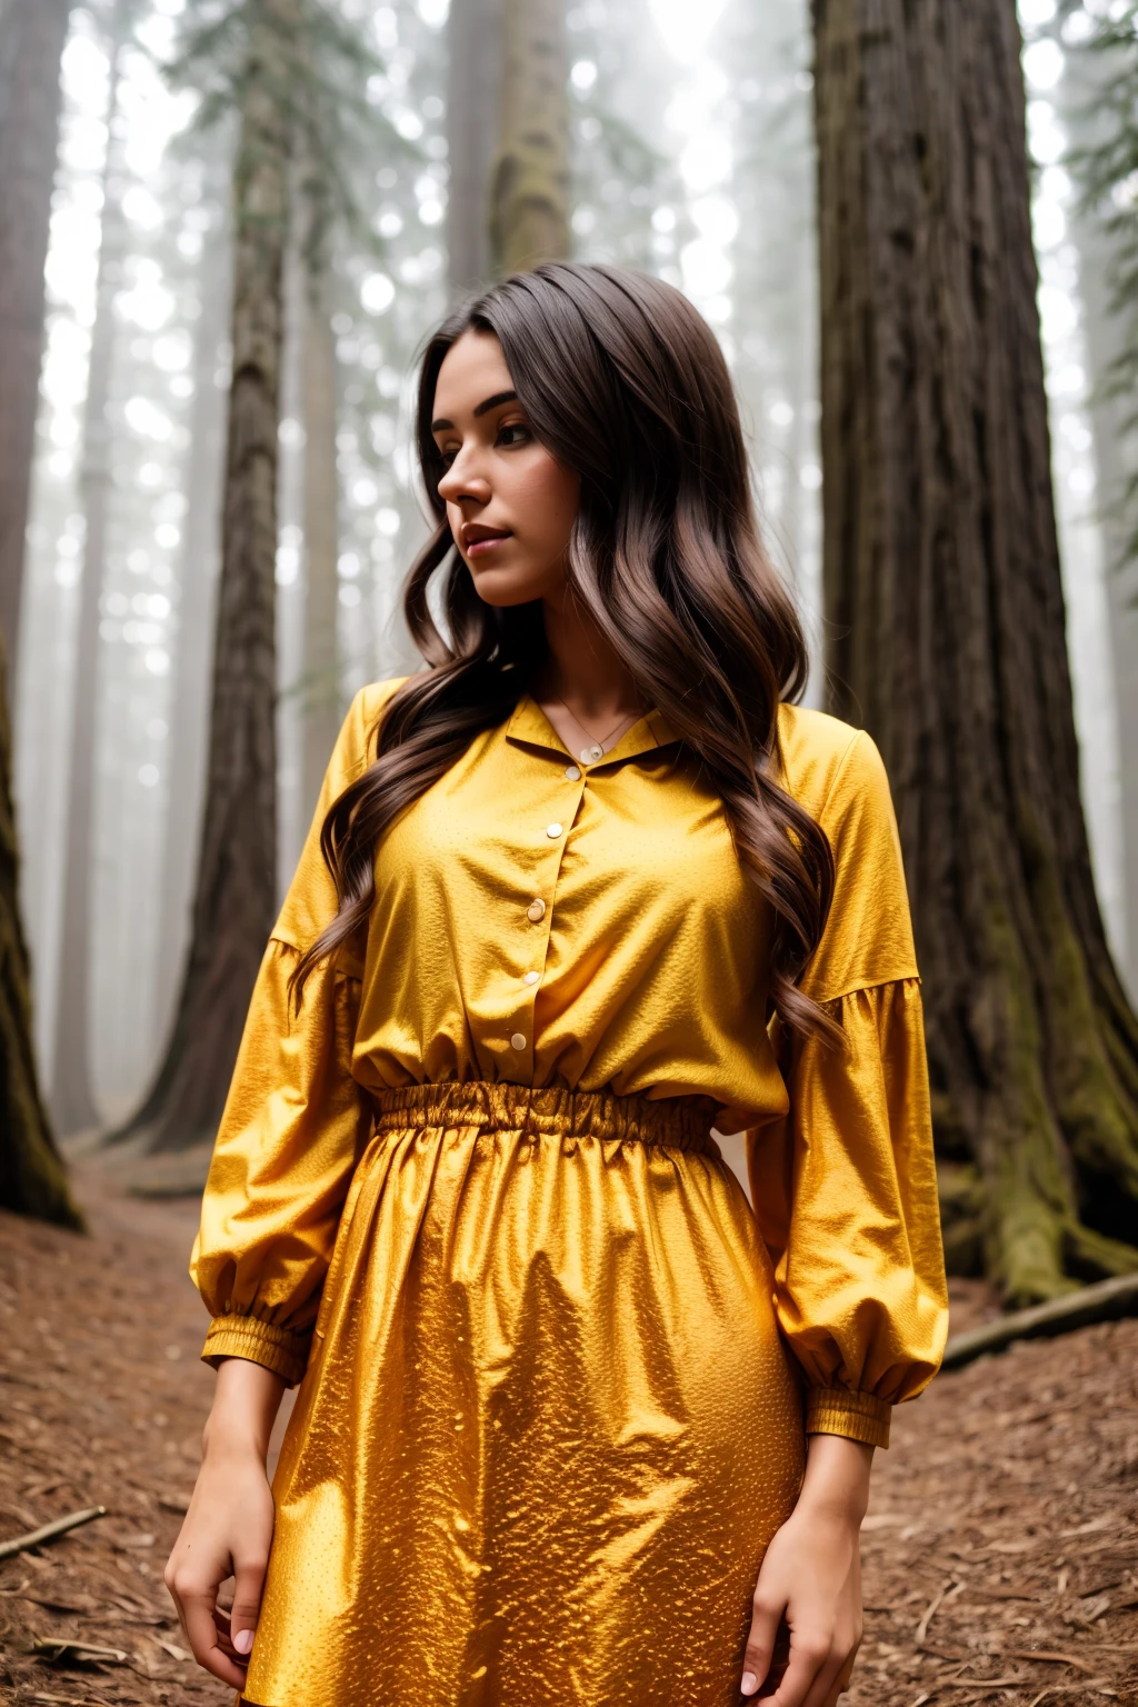
[[[336,913],[319,833],[367,765],[379,690],[357,695],[340,732],[297,874],[264,951],[217,1133],[191,1277],[215,1318],[203,1357],[246,1357],[290,1386],[305,1369],[321,1289],[370,1108],[351,1074],[358,949],[321,963],[297,1016],[288,978]]]

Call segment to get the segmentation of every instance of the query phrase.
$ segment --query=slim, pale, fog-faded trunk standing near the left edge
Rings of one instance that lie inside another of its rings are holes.
[[[84,558],[78,584],[75,674],[72,681],[72,748],[67,785],[63,854],[63,917],[51,1060],[51,1115],[68,1137],[99,1125],[90,1089],[90,888],[96,778],[99,608],[107,555],[111,500],[111,369],[114,364],[114,297],[123,275],[126,218],[123,215],[121,143],[116,140],[119,65],[128,0],[118,0],[111,27],[107,97],[107,154],[102,171],[102,227],[96,277],[96,319],[90,331],[90,365],[84,403],[80,493],[84,507]]]

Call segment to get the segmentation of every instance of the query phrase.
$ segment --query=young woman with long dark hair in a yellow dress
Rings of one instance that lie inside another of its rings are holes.
[[[351,705],[253,995],[167,1582],[263,1707],[831,1707],[945,1333],[885,775],[793,705],[679,292],[496,285],[427,348],[418,452],[427,669]]]

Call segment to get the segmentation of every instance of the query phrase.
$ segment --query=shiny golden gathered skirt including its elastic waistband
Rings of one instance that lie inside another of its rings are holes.
[[[802,1480],[703,1099],[377,1099],[280,1454],[246,1700],[727,1707]]]

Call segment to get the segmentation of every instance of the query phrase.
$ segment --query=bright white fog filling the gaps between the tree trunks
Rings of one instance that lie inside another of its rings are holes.
[[[478,26],[483,0],[452,3],[469,7]],[[464,230],[464,208],[449,201],[461,174],[449,172],[447,0],[341,0],[340,10],[370,39],[367,101],[377,123],[351,162],[360,224],[334,232],[319,300],[300,237],[287,263],[282,888],[316,799],[314,751],[328,749],[328,731],[362,683],[413,667],[399,615],[401,580],[425,533],[411,466],[413,369],[461,273],[452,248]],[[89,978],[92,1089],[104,1120],[130,1111],[171,1024],[208,727],[234,133],[225,123],[203,131],[201,94],[164,75],[184,15],[186,0],[90,0],[70,15],[14,685],[43,1082],[53,1084],[67,1046],[61,993],[68,983],[82,992]],[[1095,386],[1111,335],[1068,167],[1083,111],[1068,56],[1090,20],[1075,9],[1056,32],[1054,0],[1022,0],[1020,15],[1083,799],[1111,944],[1135,990],[1138,847],[1126,845],[1124,823],[1138,761],[1119,695],[1136,667],[1136,625],[1099,502],[1106,439]],[[570,7],[566,27],[575,254],[659,273],[713,324],[744,403],[768,541],[807,611],[810,693],[821,703],[809,9],[805,0],[585,0]],[[478,196],[478,186],[462,183],[459,193]],[[314,316],[322,338],[304,333]],[[329,553],[331,640],[307,601],[312,565]],[[84,582],[99,597],[85,671]],[[63,929],[75,731],[92,743],[87,956]]]

